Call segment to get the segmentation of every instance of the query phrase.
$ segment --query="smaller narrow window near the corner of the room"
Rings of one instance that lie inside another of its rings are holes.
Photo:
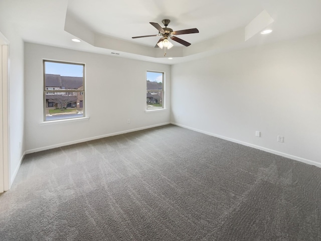
[[[164,73],[147,71],[146,110],[164,108]]]

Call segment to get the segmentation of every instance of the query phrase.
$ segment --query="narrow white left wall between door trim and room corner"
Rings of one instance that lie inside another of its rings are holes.
[[[9,41],[9,188],[24,157],[24,42],[0,14],[0,32]]]

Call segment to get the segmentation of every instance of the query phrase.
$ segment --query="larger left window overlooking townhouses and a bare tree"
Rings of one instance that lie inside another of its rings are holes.
[[[43,68],[44,121],[84,117],[85,65],[44,60]]]

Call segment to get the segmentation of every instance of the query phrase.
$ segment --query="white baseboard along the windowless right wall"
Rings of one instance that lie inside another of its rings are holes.
[[[184,125],[181,125],[181,124],[177,124],[177,123],[174,123],[174,122],[171,122],[171,124],[173,124],[175,126],[178,126],[178,127],[183,127],[183,128],[186,128],[186,129],[189,129],[189,130],[192,130],[192,131],[196,131],[196,132],[203,133],[203,134],[206,134],[206,135],[209,135],[209,136],[217,137],[217,138],[220,138],[220,139],[223,139],[223,140],[227,140],[227,141],[230,141],[230,142],[238,143],[238,144],[241,144],[241,145],[244,145],[244,146],[247,146],[247,147],[252,147],[252,148],[255,148],[255,149],[259,149],[261,151],[269,152],[269,153],[272,153],[272,154],[275,154],[275,155],[278,155],[278,156],[286,157],[286,158],[289,158],[289,159],[292,159],[292,160],[295,160],[295,161],[303,162],[305,164],[309,164],[309,165],[313,165],[313,166],[321,168],[321,163],[319,163],[319,162],[315,162],[315,161],[308,160],[308,159],[305,159],[305,158],[293,156],[293,155],[286,154],[286,153],[283,153],[283,152],[278,152],[278,151],[275,151],[275,150],[272,150],[272,149],[268,149],[268,148],[265,148],[265,147],[256,146],[256,145],[253,145],[253,144],[250,144],[250,143],[247,143],[247,142],[242,142],[242,141],[239,141],[239,140],[236,140],[236,139],[232,139],[232,138],[216,135],[214,133],[205,132],[205,131],[202,131],[202,130],[199,130],[199,129],[187,127],[187,126],[184,126]]]

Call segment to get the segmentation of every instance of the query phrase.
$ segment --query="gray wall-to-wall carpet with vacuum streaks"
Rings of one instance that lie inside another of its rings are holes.
[[[321,169],[173,125],[29,154],[1,240],[321,240]]]

